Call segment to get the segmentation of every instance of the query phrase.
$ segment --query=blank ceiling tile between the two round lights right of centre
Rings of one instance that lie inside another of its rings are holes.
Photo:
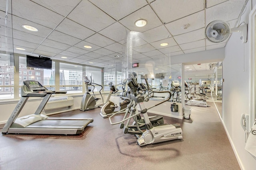
[[[164,25],[145,31],[139,36],[146,40],[148,43],[172,37]]]

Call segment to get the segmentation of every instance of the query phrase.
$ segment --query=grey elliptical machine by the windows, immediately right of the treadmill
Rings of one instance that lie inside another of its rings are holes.
[[[82,102],[81,102],[81,107],[80,107],[80,110],[81,111],[87,111],[87,110],[92,110],[92,109],[95,109],[96,107],[96,102],[98,100],[100,100],[100,98],[95,98],[95,95],[92,96],[90,93],[89,93],[89,89],[88,89],[88,85],[91,85],[93,86],[92,84],[96,84],[96,83],[92,83],[92,78],[91,78],[91,81],[88,79],[88,77],[86,76],[85,77],[85,87],[86,87],[86,93],[84,94],[83,98],[82,98]],[[98,86],[101,87],[100,91],[102,90],[102,86],[99,85],[99,84],[96,84]],[[93,86],[94,87],[94,86]],[[94,87],[95,88],[95,87]],[[93,88],[93,90],[94,90]],[[93,92],[92,90],[92,92]],[[93,92],[94,94],[94,92]],[[102,101],[103,101],[103,97],[102,97],[102,94],[100,93],[100,96],[102,98]]]

